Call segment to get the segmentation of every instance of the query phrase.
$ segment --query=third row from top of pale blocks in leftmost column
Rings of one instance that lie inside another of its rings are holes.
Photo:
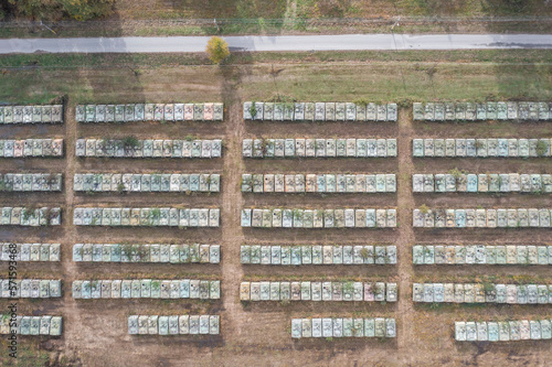
[[[0,173],[0,191],[8,192],[60,192],[61,173]]]

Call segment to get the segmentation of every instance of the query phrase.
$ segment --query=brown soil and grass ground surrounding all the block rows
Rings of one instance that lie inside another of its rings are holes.
[[[411,174],[446,172],[457,168],[469,172],[550,172],[545,159],[538,160],[417,160],[411,155],[414,137],[550,137],[549,123],[514,125],[449,125],[414,123],[410,108],[400,109],[394,123],[250,123],[242,120],[244,100],[264,100],[285,95],[301,100],[412,100],[412,99],[485,99],[517,98],[550,99],[549,66],[530,65],[509,69],[492,64],[439,64],[432,80],[407,63],[344,65],[278,64],[283,68],[276,78],[270,65],[226,67],[178,66],[146,68],[139,76],[128,69],[20,71],[0,79],[12,85],[15,78],[34,80],[33,87],[21,85],[14,95],[0,98],[18,101],[40,98],[35,90],[66,94],[68,105],[65,123],[61,127],[18,128],[3,126],[2,137],[63,136],[64,159],[2,160],[1,171],[63,172],[63,194],[0,194],[2,204],[49,204],[64,208],[63,225],[52,228],[2,228],[0,240],[60,241],[62,262],[20,263],[20,277],[62,278],[61,300],[19,300],[21,314],[61,314],[63,336],[59,338],[21,337],[20,345],[31,346],[34,359],[20,365],[41,366],[44,354],[51,360],[72,366],[545,366],[552,358],[549,342],[516,342],[511,344],[460,344],[453,341],[455,320],[505,320],[552,317],[548,306],[442,305],[429,307],[412,302],[414,281],[456,280],[496,277],[503,281],[528,279],[550,282],[549,267],[417,267],[412,266],[413,244],[551,244],[550,230],[535,229],[465,229],[423,230],[412,227],[412,209],[433,206],[476,207],[544,207],[548,196],[528,195],[413,195]],[[397,73],[397,71],[400,71]],[[518,72],[520,72],[518,75]],[[33,73],[40,73],[35,75]],[[542,74],[544,73],[544,74]],[[11,87],[4,90],[13,90]],[[79,126],[74,120],[77,102],[127,102],[172,100],[222,100],[225,119],[222,123],[131,123],[126,126]],[[40,129],[40,130],[39,130]],[[213,161],[76,159],[74,142],[78,137],[163,137],[223,138],[223,158]],[[241,142],[251,137],[382,137],[399,139],[399,158],[381,160],[243,160]],[[219,172],[222,192],[217,195],[128,194],[83,195],[73,193],[75,172]],[[396,195],[242,195],[243,172],[386,172],[396,173]],[[76,205],[185,205],[219,206],[222,209],[217,229],[174,228],[76,228],[71,224]],[[400,226],[379,230],[278,230],[242,229],[240,209],[243,206],[311,206],[311,207],[397,207]],[[75,242],[202,242],[222,245],[220,266],[178,265],[77,265],[72,261]],[[370,267],[242,267],[240,245],[243,244],[395,244],[397,266]],[[7,274],[6,263],[0,273]],[[162,300],[73,300],[71,282],[76,279],[198,277],[222,279],[222,299],[216,302]],[[2,277],[3,278],[3,277]],[[311,303],[282,304],[263,302],[242,304],[238,284],[243,279],[361,279],[396,281],[400,298],[396,304]],[[8,301],[0,301],[6,309]],[[127,316],[130,314],[212,313],[222,317],[216,337],[130,336]],[[306,316],[390,316],[397,321],[397,338],[293,341],[290,319]],[[9,366],[2,342],[0,360]],[[40,352],[39,352],[40,350]]]

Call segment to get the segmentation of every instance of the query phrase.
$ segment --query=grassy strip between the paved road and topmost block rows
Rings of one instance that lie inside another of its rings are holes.
[[[235,54],[223,66],[202,54],[44,54],[4,56],[0,67],[0,101],[18,102],[552,99],[550,53],[538,50]]]

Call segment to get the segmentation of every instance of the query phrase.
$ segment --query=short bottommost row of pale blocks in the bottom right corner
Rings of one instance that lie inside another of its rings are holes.
[[[517,342],[552,338],[550,320],[457,321],[456,342]]]

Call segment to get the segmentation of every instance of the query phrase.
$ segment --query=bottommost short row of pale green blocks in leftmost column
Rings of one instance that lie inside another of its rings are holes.
[[[62,316],[15,316],[3,314],[0,316],[0,334],[18,335],[62,335]],[[10,326],[10,323],[13,323]]]

